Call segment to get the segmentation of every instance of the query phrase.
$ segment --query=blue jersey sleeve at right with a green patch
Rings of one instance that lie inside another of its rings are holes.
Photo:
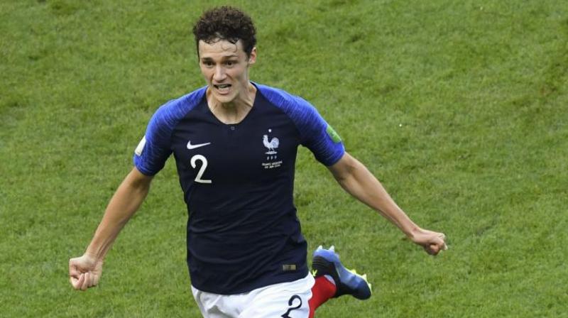
[[[296,97],[295,123],[300,131],[302,146],[312,151],[315,158],[324,165],[333,165],[345,153],[342,138],[327,124],[320,113],[305,99]]]

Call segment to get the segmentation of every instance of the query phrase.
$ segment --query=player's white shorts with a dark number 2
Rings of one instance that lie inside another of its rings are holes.
[[[315,283],[308,274],[301,280],[261,287],[236,295],[202,292],[191,287],[204,318],[307,318]]]

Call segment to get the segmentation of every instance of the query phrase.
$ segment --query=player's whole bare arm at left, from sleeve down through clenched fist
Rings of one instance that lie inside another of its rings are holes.
[[[104,257],[116,236],[146,198],[151,181],[152,177],[133,168],[114,192],[87,251],[83,256],[69,261],[70,283],[75,289],[86,290],[98,284]]]

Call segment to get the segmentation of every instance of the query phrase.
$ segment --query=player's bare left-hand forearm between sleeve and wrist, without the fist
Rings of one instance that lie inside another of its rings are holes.
[[[102,260],[119,235],[121,229],[148,194],[149,181],[140,179],[140,172],[132,170],[112,196],[86,254]]]

